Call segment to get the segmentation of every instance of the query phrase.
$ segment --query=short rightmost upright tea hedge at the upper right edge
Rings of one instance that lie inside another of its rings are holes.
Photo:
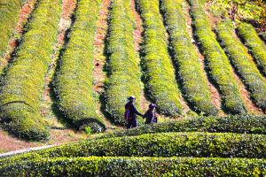
[[[266,75],[266,45],[256,34],[254,27],[248,23],[241,23],[237,28],[239,37],[245,42],[245,45],[252,53],[262,73]]]

